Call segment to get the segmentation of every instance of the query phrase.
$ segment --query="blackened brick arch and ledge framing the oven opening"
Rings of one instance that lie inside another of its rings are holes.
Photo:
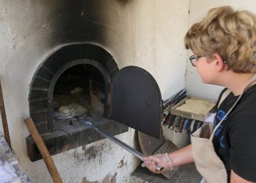
[[[85,125],[78,123],[69,125],[69,123],[63,123],[63,125],[67,127],[65,130],[61,131],[50,129],[48,123],[52,120],[49,119],[49,109],[51,109],[49,95],[50,92],[53,92],[53,88],[50,87],[50,84],[54,76],[56,77],[56,74],[62,67],[69,63],[77,62],[75,64],[83,64],[90,62],[90,60],[107,70],[110,81],[119,70],[111,54],[103,49],[103,47],[84,43],[61,47],[39,65],[33,76],[29,93],[30,115],[51,155],[103,139],[102,136]],[[74,64],[70,64],[70,66],[73,65]],[[110,119],[103,119],[100,123],[94,119],[91,119],[91,121],[94,122],[97,127],[112,135],[128,131],[127,126]],[[31,136],[26,138],[26,146],[31,161],[41,159],[39,150],[35,146],[35,142]]]

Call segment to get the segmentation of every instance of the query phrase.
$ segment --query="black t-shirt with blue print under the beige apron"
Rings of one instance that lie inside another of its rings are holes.
[[[223,100],[217,110],[215,125],[225,116],[237,98],[238,96],[231,93]],[[238,176],[256,182],[256,85],[246,91],[215,131],[213,146],[225,164],[229,182],[231,169]]]

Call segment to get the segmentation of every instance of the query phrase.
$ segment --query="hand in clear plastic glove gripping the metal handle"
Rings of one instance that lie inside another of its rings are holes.
[[[152,155],[149,157],[143,157],[142,167],[147,167],[155,174],[162,174],[164,171],[172,170],[172,161],[168,156],[168,153]],[[157,166],[164,167],[161,171],[157,169]]]

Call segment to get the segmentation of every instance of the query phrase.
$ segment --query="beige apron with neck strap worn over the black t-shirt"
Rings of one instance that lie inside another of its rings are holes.
[[[244,92],[247,89],[249,89],[249,87],[255,81],[255,79],[256,75],[253,76],[253,78],[246,85],[242,94],[244,94]],[[230,90],[227,89],[221,96],[219,104],[221,104],[221,102],[227,97],[228,94],[230,94]],[[199,173],[204,178],[202,182],[227,183],[227,171],[225,169],[225,165],[217,156],[215,149],[213,147],[212,140],[215,131],[218,129],[219,125],[221,125],[221,123],[227,117],[227,115],[231,112],[234,106],[236,106],[242,94],[236,100],[232,108],[228,110],[227,114],[223,117],[223,119],[221,119],[221,121],[215,127],[215,129],[213,129],[213,126],[211,124],[207,124],[200,127],[193,134],[191,134],[192,153],[196,164],[196,169],[198,169]]]

